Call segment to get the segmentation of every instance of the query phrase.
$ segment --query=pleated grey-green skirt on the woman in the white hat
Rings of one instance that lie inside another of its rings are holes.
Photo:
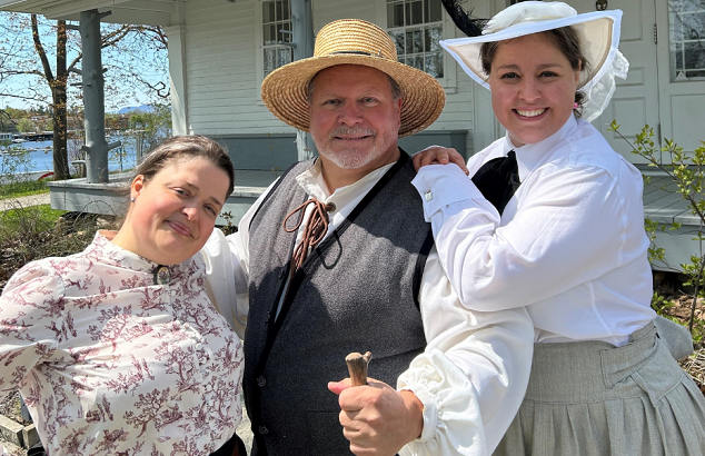
[[[494,455],[705,455],[705,398],[653,324],[623,347],[534,347],[526,396]]]

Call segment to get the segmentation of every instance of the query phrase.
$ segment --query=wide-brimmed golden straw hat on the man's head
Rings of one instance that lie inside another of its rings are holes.
[[[330,22],[316,38],[314,57],[285,65],[262,82],[262,101],[279,119],[308,131],[308,82],[320,70],[336,65],[361,65],[391,77],[399,87],[401,126],[399,137],[430,126],[443,111],[446,95],[436,78],[397,61],[397,49],[379,27],[357,19]]]

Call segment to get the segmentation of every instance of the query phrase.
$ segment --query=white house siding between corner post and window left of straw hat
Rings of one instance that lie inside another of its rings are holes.
[[[255,0],[187,3],[186,66],[191,132],[292,133],[258,100]]]

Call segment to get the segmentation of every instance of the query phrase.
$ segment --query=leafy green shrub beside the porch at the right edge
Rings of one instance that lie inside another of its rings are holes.
[[[705,277],[703,275],[705,269],[705,255],[703,254],[705,241],[705,198],[703,197],[705,186],[705,141],[701,141],[701,146],[693,151],[684,151],[673,139],[664,139],[663,147],[656,146],[654,129],[648,125],[636,135],[634,143],[619,132],[619,125],[617,125],[616,120],[612,121],[608,129],[619,135],[622,139],[632,146],[632,153],[642,157],[649,167],[657,168],[668,176],[676,185],[676,192],[687,202],[691,214],[699,219],[699,227],[694,237],[694,240],[699,242],[699,256],[692,255],[689,264],[681,265],[682,271],[688,278],[684,285],[693,287],[693,305],[691,307],[688,329],[693,335],[694,341],[699,343],[705,336],[705,321],[695,321],[695,307],[698,298],[705,299]],[[671,160],[663,160],[664,156],[667,156]],[[666,229],[679,229],[681,224],[673,222],[671,226],[665,226],[646,219],[645,228],[651,240],[648,249],[649,261],[664,261],[664,248],[654,244],[656,234]],[[662,296],[654,294],[652,305],[655,308],[664,309],[667,308],[668,304]]]

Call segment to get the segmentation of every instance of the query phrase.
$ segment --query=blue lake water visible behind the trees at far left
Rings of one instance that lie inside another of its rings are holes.
[[[113,140],[115,138],[111,139],[111,141]],[[2,149],[0,149],[0,174],[6,174],[10,169],[14,170],[14,172],[53,170],[51,141],[27,141],[13,146],[23,147],[29,151],[29,156],[27,158],[9,156],[2,153]],[[137,155],[132,148],[121,146],[108,151],[108,169],[110,171],[133,169],[136,163]]]

